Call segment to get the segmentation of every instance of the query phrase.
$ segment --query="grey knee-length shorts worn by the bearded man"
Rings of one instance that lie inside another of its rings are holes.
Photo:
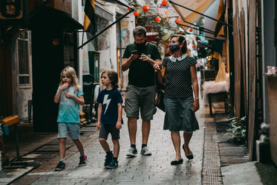
[[[141,118],[150,121],[157,109],[154,105],[156,87],[136,87],[128,85],[125,97],[125,107],[127,118],[139,118],[139,109],[141,108]]]

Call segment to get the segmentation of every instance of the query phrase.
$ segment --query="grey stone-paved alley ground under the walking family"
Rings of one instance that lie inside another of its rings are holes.
[[[201,104],[202,105],[202,104]],[[57,164],[55,157],[46,164],[26,175],[36,179],[32,184],[202,184],[202,159],[204,146],[204,109],[197,112],[200,130],[194,133],[190,143],[190,149],[195,159],[188,161],[181,150],[184,164],[171,166],[170,161],[175,157],[170,132],[163,130],[164,113],[157,110],[152,121],[148,148],[152,156],[143,156],[140,153],[134,158],[127,158],[129,149],[129,134],[127,119],[124,118],[123,128],[120,130],[120,154],[119,167],[111,170],[104,168],[105,151],[98,142],[98,132],[91,134],[84,141],[85,152],[88,155],[87,166],[78,167],[79,153],[75,147],[66,150],[66,169],[55,172],[53,168]],[[112,148],[111,138],[108,143]],[[184,139],[181,140],[184,143]],[[136,146],[141,150],[141,119],[138,121]],[[68,158],[67,158],[68,157]],[[51,166],[51,170],[48,167]],[[24,184],[24,182],[21,182]]]

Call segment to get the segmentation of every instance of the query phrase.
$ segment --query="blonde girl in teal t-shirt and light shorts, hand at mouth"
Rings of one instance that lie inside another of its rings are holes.
[[[60,103],[57,116],[58,135],[60,140],[60,162],[55,170],[65,168],[65,148],[67,132],[80,152],[79,166],[87,164],[87,155],[84,155],[84,147],[80,140],[79,105],[84,105],[83,92],[78,85],[78,78],[72,67],[66,67],[60,73],[60,86],[57,89],[54,101]]]

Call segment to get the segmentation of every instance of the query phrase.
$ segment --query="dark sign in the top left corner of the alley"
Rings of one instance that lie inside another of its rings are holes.
[[[0,1],[0,19],[21,19],[22,16],[22,0]]]

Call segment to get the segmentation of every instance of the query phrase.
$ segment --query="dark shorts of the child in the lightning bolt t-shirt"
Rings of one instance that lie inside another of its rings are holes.
[[[120,139],[119,130],[116,128],[116,124],[103,124],[100,125],[99,138],[104,138],[107,140],[109,133],[111,133],[111,139]]]

